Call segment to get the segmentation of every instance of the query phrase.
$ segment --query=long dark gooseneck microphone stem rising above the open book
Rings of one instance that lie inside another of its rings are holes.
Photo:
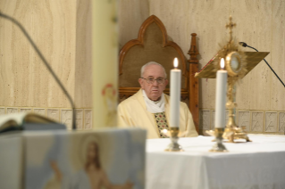
[[[42,60],[42,62],[45,63],[47,70],[49,70],[49,72],[52,74],[52,76],[54,77],[56,83],[60,86],[60,88],[63,90],[63,94],[65,94],[65,96],[67,97],[67,99],[69,100],[69,102],[71,103],[71,108],[72,108],[72,129],[75,130],[76,129],[76,125],[75,125],[75,120],[76,120],[76,113],[75,113],[75,105],[71,99],[71,95],[68,94],[67,90],[65,89],[65,87],[63,86],[62,82],[59,80],[59,78],[57,78],[57,76],[54,73],[54,70],[52,70],[52,68],[50,67],[49,63],[46,61],[46,58],[44,57],[44,55],[39,51],[38,46],[33,42],[33,40],[31,39],[31,37],[29,37],[28,32],[26,31],[26,29],[24,29],[24,27],[21,25],[21,23],[19,21],[16,21],[15,19],[13,19],[12,17],[5,15],[4,13],[0,12],[0,17],[3,17],[4,19],[7,19],[9,21],[12,21],[14,24],[16,24],[20,29],[21,32],[24,34],[25,37],[27,37],[27,39],[29,40],[30,45],[33,46],[34,50],[38,53],[38,56],[40,57],[40,59]]]

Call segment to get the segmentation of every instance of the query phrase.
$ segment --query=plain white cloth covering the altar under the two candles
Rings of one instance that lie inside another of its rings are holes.
[[[285,136],[248,136],[253,142],[224,143],[229,152],[208,152],[212,136],[180,138],[185,152],[147,139],[147,189],[285,188]]]

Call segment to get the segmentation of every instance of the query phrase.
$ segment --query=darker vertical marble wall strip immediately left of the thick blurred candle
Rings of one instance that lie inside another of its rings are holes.
[[[74,102],[92,107],[91,0],[77,0]]]

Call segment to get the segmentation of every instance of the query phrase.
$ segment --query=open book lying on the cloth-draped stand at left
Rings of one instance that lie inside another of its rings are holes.
[[[37,113],[12,113],[0,116],[0,133],[13,130],[51,130],[65,129],[65,126],[56,123]]]

